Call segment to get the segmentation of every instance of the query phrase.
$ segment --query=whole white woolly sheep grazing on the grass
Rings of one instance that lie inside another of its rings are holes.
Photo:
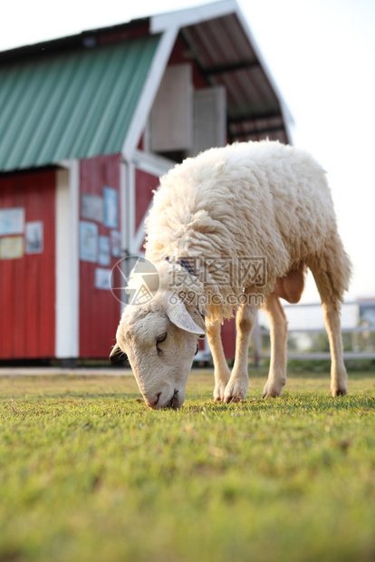
[[[307,153],[278,142],[244,142],[185,160],[160,179],[147,220],[146,258],[158,269],[159,290],[145,305],[125,307],[111,359],[128,355],[150,408],[182,404],[197,340],[206,331],[215,399],[245,399],[247,352],[260,305],[271,329],[264,397],[280,395],[287,322],[279,297],[299,301],[306,267],[322,298],[332,395],[346,394],[340,301],[351,266],[325,173]],[[220,325],[234,308],[230,373]]]

